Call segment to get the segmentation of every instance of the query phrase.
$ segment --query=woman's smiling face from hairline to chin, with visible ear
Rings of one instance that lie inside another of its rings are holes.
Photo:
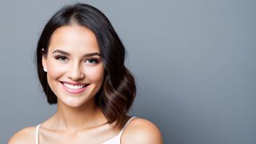
[[[42,61],[58,103],[79,107],[101,89],[104,68],[100,48],[86,27],[69,25],[55,30]]]

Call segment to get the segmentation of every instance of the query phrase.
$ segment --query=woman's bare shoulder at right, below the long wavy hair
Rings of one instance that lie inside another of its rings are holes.
[[[121,136],[122,143],[161,144],[161,131],[149,120],[135,118],[129,122]]]

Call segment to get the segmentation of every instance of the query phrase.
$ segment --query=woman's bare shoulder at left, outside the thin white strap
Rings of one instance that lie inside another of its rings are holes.
[[[35,127],[25,127],[9,139],[8,144],[35,143]]]

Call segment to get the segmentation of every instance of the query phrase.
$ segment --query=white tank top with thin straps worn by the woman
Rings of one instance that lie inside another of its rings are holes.
[[[111,138],[109,140],[106,140],[104,143],[102,144],[120,144],[121,143],[121,134],[124,132],[125,127],[127,127],[127,125],[129,124],[129,122],[134,119],[136,117],[131,117],[127,123],[124,125],[124,127],[121,129],[121,131],[119,132],[118,135],[116,135],[114,138]],[[41,124],[37,125],[35,128],[35,144],[39,144],[39,127]]]

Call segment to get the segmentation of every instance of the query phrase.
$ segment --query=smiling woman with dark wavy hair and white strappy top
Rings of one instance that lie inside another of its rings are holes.
[[[135,81],[107,17],[88,4],[64,6],[44,27],[36,52],[38,78],[56,113],[26,127],[13,143],[162,143],[152,122],[127,115]]]

